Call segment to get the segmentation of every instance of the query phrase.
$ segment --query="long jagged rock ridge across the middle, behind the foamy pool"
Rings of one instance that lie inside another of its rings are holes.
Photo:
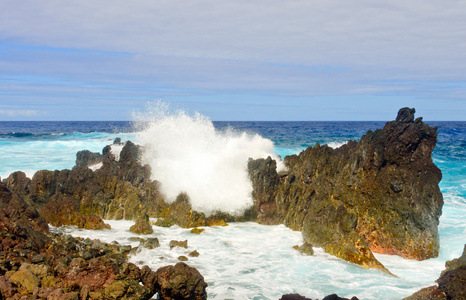
[[[403,108],[383,129],[337,149],[309,147],[285,157],[288,171],[271,158],[250,160],[254,206],[241,217],[193,211],[189,195],[168,204],[150,167],[139,162],[141,148],[128,141],[119,155],[80,152],[72,170],[39,171],[32,180],[16,172],[6,186],[57,226],[104,228],[104,219],[146,220],[156,225],[199,227],[232,221],[284,223],[312,246],[369,268],[387,271],[373,252],[426,259],[438,255],[437,226],[443,198],[440,170],[431,154],[436,128]],[[90,164],[102,166],[93,171]],[[61,209],[63,205],[63,209]],[[143,222],[135,230],[150,224]],[[149,226],[147,226],[149,225]]]

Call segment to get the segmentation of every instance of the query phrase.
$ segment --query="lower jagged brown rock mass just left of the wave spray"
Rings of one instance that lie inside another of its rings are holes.
[[[158,183],[149,178],[149,167],[138,162],[139,146],[125,143],[119,160],[107,148],[103,153],[78,152],[72,170],[42,170],[32,180],[22,172],[13,173],[7,187],[55,226],[101,229],[105,224],[97,219],[136,220],[144,213],[156,217],[166,211],[168,204]],[[101,168],[88,168],[97,161]]]

